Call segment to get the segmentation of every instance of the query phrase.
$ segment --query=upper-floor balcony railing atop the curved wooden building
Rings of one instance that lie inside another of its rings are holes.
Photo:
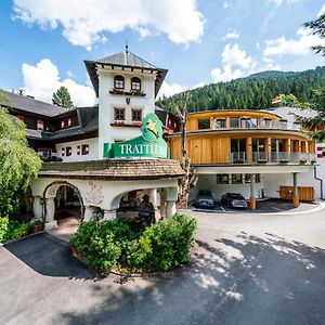
[[[226,130],[226,129],[277,129],[277,130],[300,130],[300,125],[282,121],[282,120],[269,120],[269,119],[239,119],[231,118],[229,126],[225,119],[213,119],[213,130]]]

